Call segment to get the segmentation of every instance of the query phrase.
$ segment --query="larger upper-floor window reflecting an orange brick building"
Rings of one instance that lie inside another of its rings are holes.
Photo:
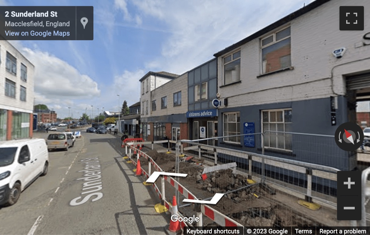
[[[292,66],[290,58],[290,27],[261,39],[262,73]]]

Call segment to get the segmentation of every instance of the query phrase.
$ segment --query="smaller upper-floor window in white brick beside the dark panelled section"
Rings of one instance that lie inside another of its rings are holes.
[[[223,84],[240,81],[240,51],[223,58]]]

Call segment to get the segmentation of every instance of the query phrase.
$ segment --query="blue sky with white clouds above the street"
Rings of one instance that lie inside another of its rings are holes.
[[[93,41],[11,41],[35,65],[36,104],[58,117],[140,98],[148,71],[182,74],[313,0],[0,0],[8,6],[94,6]],[[90,22],[89,22],[90,23]],[[71,114],[71,115],[72,115]]]

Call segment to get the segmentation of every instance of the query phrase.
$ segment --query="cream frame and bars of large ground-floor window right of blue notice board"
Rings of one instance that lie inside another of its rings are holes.
[[[276,109],[268,109],[268,110],[261,110],[261,132],[264,133],[263,131],[263,124],[264,123],[268,123],[268,124],[283,124],[283,127],[284,127],[284,130],[283,132],[285,132],[285,124],[292,124],[293,121],[291,122],[285,122],[285,115],[284,115],[284,111],[286,110],[289,110],[289,111],[292,111],[293,113],[293,108],[276,108]],[[282,111],[283,112],[283,121],[282,122],[278,122],[277,120],[274,121],[274,122],[271,122],[270,121],[270,112],[279,112],[279,111]],[[268,122],[263,122],[263,112],[268,112],[268,117],[269,117],[269,121]],[[293,114],[292,114],[292,118],[293,118]],[[269,127],[269,130],[270,130],[270,127]],[[277,131],[277,129],[276,129]],[[270,132],[271,133],[271,132]],[[288,134],[289,135],[289,134]],[[283,138],[284,138],[284,148],[278,148],[278,140],[277,140],[277,137],[278,137],[278,133],[276,133],[276,147],[270,147],[270,135],[265,135],[264,139],[267,138],[268,141],[269,141],[269,144],[268,146],[265,146],[265,143],[263,142],[264,140],[261,139],[261,146],[264,146],[265,149],[272,149],[272,150],[279,150],[279,151],[286,151],[286,152],[293,152],[293,138],[292,136],[290,137],[291,140],[290,140],[290,143],[292,145],[292,149],[289,150],[289,149],[286,149],[286,138],[289,138],[289,137],[286,137],[285,134],[283,134]],[[280,135],[281,136],[281,135]]]

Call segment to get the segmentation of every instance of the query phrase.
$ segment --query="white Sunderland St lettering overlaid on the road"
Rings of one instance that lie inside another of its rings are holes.
[[[81,192],[81,195],[84,195],[84,194],[87,194],[87,193],[90,193],[90,194],[86,195],[82,200],[80,200],[82,197],[77,197],[77,198],[72,199],[70,201],[71,206],[78,206],[78,205],[84,204],[85,202],[87,202],[93,196],[96,196],[96,197],[91,199],[92,202],[97,201],[97,200],[99,200],[103,197],[102,192],[95,192],[95,191],[100,191],[100,190],[103,189],[103,187],[101,185],[99,185],[99,184],[101,184],[100,162],[99,161],[91,161],[91,160],[98,160],[98,159],[99,158],[84,158],[84,159],[80,160],[80,162],[81,162],[80,164],[85,164],[85,167],[82,171],[77,171],[77,172],[83,172],[84,171],[84,173],[83,173],[84,178],[79,178],[79,179],[76,179],[76,180],[82,179],[83,181],[88,181],[88,182],[83,183],[83,188],[82,188],[83,191],[86,190],[86,189],[92,189],[92,188],[95,188],[95,189],[87,191],[87,192]],[[86,161],[89,161],[89,162],[86,162]],[[97,181],[100,181],[100,182],[97,182]],[[97,182],[97,183],[91,184],[92,182]],[[92,185],[96,185],[96,186],[92,186]],[[92,187],[90,187],[90,186],[92,186]],[[87,188],[85,188],[85,187],[87,187]],[[94,193],[92,193],[92,192],[94,192]]]

